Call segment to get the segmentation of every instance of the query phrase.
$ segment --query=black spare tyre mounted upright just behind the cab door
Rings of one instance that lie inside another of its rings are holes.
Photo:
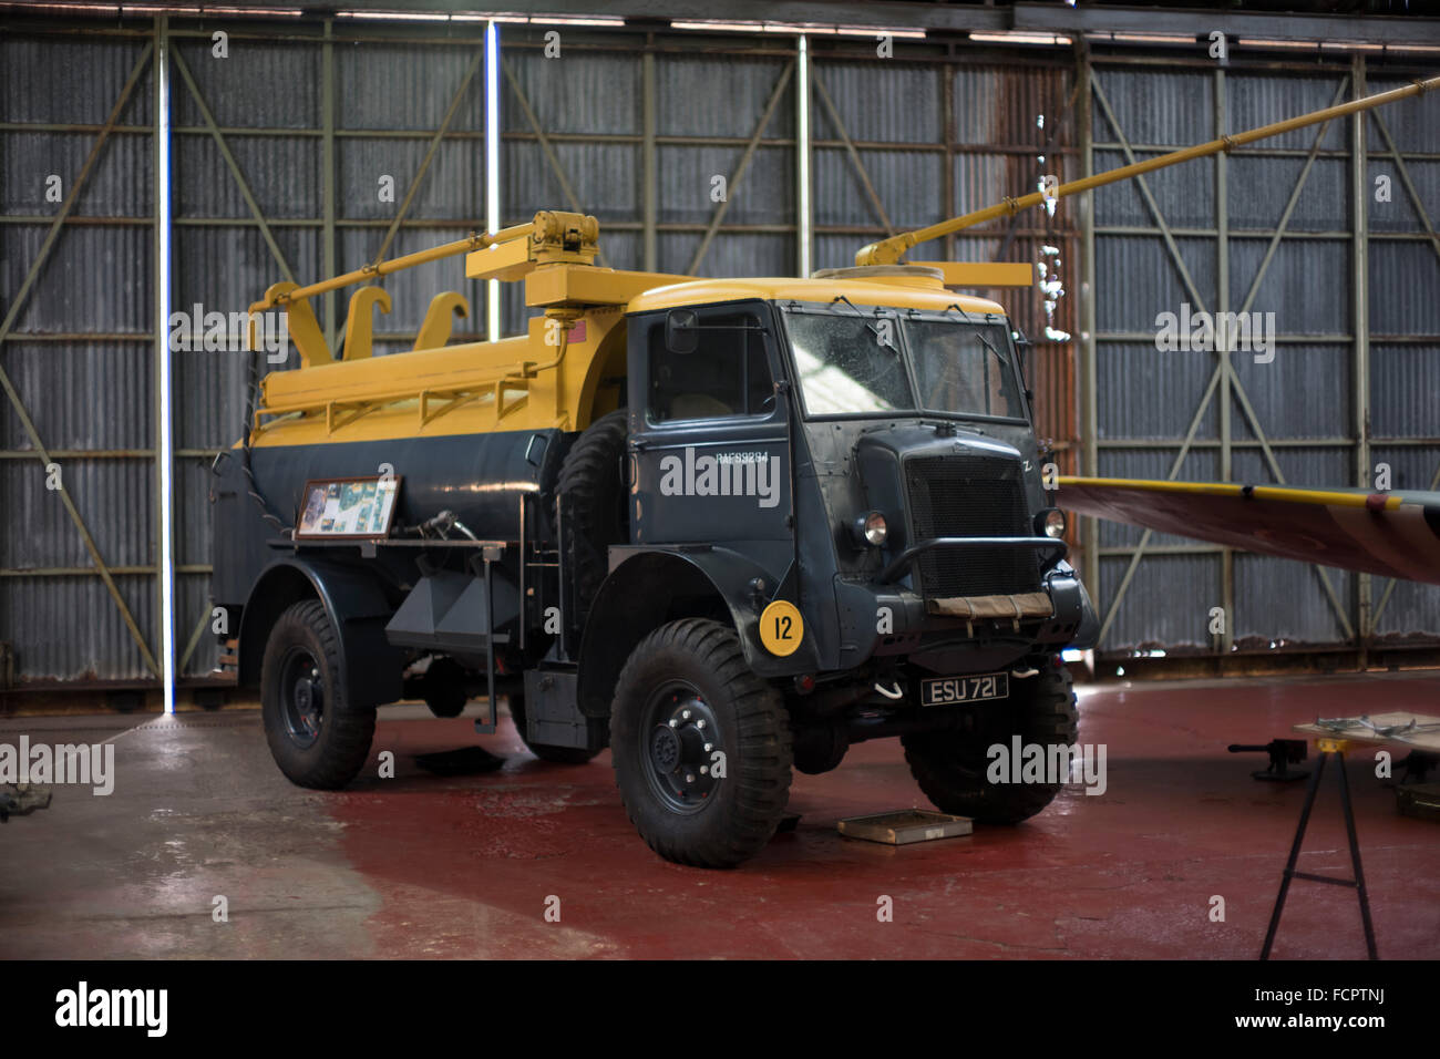
[[[624,408],[602,415],[575,439],[560,464],[557,488],[569,499],[573,519],[564,563],[582,620],[609,569],[609,546],[629,540],[621,471],[628,432]]]

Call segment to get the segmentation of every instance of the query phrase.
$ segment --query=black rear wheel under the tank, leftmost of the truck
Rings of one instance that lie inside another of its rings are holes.
[[[271,630],[261,716],[275,764],[301,787],[338,790],[370,756],[374,707],[346,702],[340,638],[317,599],[292,604]]]

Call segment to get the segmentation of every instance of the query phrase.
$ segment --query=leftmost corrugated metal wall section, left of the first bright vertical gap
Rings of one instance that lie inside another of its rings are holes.
[[[158,630],[150,78],[145,40],[0,39],[0,314],[19,307],[0,369],[63,486],[48,487],[56,483],[4,401],[0,641],[27,677],[153,676],[137,643],[153,644]],[[75,219],[42,255],[66,200]],[[66,494],[130,622],[94,575]]]

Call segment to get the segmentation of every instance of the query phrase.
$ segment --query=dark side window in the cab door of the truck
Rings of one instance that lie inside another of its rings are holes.
[[[665,346],[665,323],[649,329],[649,421],[729,419],[775,408],[765,331],[753,313],[700,311],[694,353]]]

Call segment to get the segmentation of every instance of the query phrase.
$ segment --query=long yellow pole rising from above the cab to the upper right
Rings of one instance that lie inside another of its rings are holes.
[[[1044,192],[1031,192],[1020,199],[1005,199],[995,206],[986,206],[985,209],[966,213],[965,216],[950,218],[949,220],[942,220],[940,223],[930,225],[929,228],[919,228],[913,232],[901,232],[900,235],[888,239],[873,242],[855,254],[855,264],[894,265],[912,246],[929,242],[930,239],[939,239],[942,235],[949,235],[950,232],[959,232],[962,228],[972,228],[973,225],[982,225],[986,220],[1012,216],[1022,209],[1041,205],[1047,197],[1063,199],[1067,195],[1076,195],[1077,192],[1089,192],[1092,187],[1103,187],[1104,184],[1113,184],[1119,180],[1129,180],[1133,176],[1140,176],[1143,173],[1149,173],[1151,170],[1165,169],[1166,166],[1178,166],[1179,163],[1191,161],[1192,158],[1204,158],[1210,154],[1228,151],[1234,147],[1244,147],[1256,140],[1267,140],[1272,135],[1280,135],[1282,133],[1305,128],[1306,125],[1318,125],[1322,121],[1344,118],[1346,114],[1368,111],[1372,107],[1381,107],[1387,102],[1395,102],[1397,99],[1404,99],[1411,95],[1423,95],[1434,88],[1440,88],[1440,76],[1428,78],[1426,81],[1414,81],[1404,88],[1392,88],[1388,92],[1367,95],[1364,99],[1351,99],[1349,102],[1342,102],[1338,107],[1328,107],[1323,111],[1302,114],[1297,118],[1286,118],[1284,121],[1260,125],[1259,128],[1251,128],[1246,133],[1236,133],[1234,135],[1223,135],[1218,140],[1195,144],[1194,147],[1182,147],[1178,151],[1171,151],[1169,154],[1162,154],[1156,158],[1136,161],[1130,166],[1106,170],[1104,173],[1096,173],[1080,180],[1071,180],[1068,184],[1060,184],[1056,187],[1050,196]]]

